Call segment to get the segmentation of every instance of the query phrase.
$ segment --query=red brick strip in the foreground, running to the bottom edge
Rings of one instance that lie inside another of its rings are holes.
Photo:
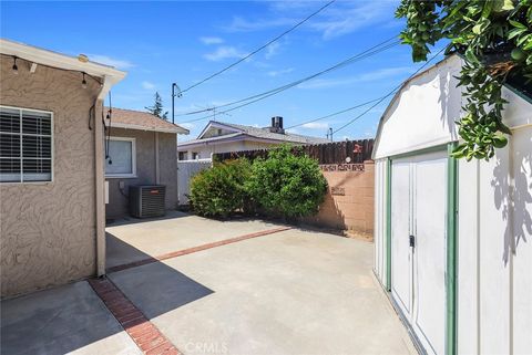
[[[111,280],[91,279],[89,284],[144,354],[182,355]]]

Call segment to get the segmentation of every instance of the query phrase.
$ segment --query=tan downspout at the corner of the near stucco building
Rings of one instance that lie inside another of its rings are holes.
[[[111,90],[109,76],[102,77],[102,88],[95,100],[94,109],[94,185],[96,210],[96,275],[105,274],[105,175],[103,160],[103,122],[99,119],[105,95]]]

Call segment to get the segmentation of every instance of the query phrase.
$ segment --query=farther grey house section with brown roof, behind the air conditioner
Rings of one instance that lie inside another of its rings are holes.
[[[106,108],[109,111],[109,108]],[[112,108],[106,121],[108,218],[129,213],[129,187],[166,186],[165,208],[177,207],[177,134],[188,130],[146,112]]]

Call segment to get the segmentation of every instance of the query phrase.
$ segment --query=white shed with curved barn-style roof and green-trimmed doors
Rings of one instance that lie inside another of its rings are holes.
[[[422,352],[531,354],[532,100],[504,87],[508,146],[456,160],[461,65],[407,81],[380,121],[375,273]]]

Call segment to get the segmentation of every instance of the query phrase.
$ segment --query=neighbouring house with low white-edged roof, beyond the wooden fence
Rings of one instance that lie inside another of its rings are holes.
[[[265,149],[283,143],[320,144],[326,138],[285,132],[283,117],[273,117],[269,127],[254,127],[211,121],[194,140],[177,145],[180,160],[208,159],[214,153]]]

